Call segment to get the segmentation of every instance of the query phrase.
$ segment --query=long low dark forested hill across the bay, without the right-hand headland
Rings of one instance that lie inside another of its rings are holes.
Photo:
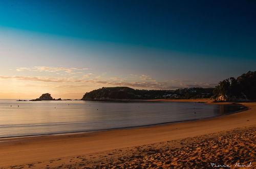
[[[209,98],[214,88],[178,90],[135,90],[129,87],[101,88],[84,94],[82,100]]]

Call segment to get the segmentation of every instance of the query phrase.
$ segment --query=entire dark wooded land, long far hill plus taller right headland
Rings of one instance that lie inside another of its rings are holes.
[[[135,90],[129,87],[101,88],[84,94],[82,100],[112,99],[191,99],[214,98],[216,101],[249,101],[256,99],[256,71],[219,82],[216,88],[177,90]]]

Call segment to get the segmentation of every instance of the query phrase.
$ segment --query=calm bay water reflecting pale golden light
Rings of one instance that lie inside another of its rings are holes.
[[[240,109],[194,102],[0,100],[0,137],[128,128],[219,116]]]

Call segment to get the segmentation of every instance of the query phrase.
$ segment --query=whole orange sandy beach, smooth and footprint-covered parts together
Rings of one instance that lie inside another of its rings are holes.
[[[163,100],[172,101],[172,100]],[[175,100],[177,101],[177,100]],[[207,102],[211,100],[180,100]],[[254,165],[256,103],[208,119],[83,134],[0,139],[0,167],[211,167]],[[237,129],[238,128],[238,129]],[[236,130],[234,130],[236,129]]]

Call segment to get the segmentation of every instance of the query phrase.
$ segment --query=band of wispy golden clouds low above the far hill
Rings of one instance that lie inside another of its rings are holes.
[[[39,76],[0,76],[0,79],[14,79],[24,81],[41,81],[51,82],[48,83],[50,88],[86,88],[86,87],[115,87],[115,86],[127,86],[136,89],[161,89],[161,90],[173,90],[178,88],[191,88],[191,87],[214,87],[217,84],[207,82],[197,82],[193,80],[171,80],[158,81],[145,74],[129,74],[120,77],[108,77],[106,72],[104,73],[92,73],[84,70],[88,68],[65,68],[65,67],[20,67],[16,69],[18,72],[33,71],[33,72],[53,72],[57,74],[57,77],[43,76],[41,73],[37,73]],[[67,76],[74,75],[74,76]],[[54,76],[54,75],[53,75]],[[56,75],[55,75],[56,76]],[[56,84],[54,84],[56,83]],[[57,85],[58,83],[58,85]],[[44,85],[46,83],[42,83]]]

